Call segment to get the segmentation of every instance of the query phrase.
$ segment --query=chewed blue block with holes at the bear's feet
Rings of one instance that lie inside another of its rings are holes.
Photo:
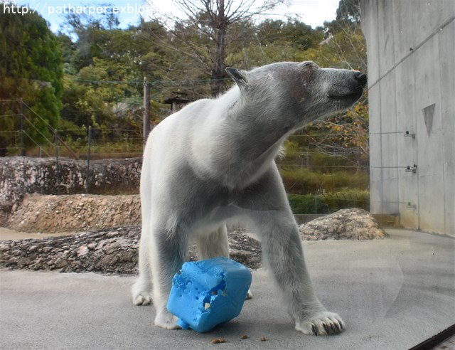
[[[229,258],[184,263],[167,307],[183,329],[207,332],[240,314],[250,285],[250,270]]]

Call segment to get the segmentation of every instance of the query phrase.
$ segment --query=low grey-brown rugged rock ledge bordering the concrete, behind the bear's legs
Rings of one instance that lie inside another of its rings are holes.
[[[0,241],[0,267],[60,272],[137,273],[139,226],[107,228],[79,235]],[[229,233],[230,257],[252,269],[261,265],[257,240],[241,231]],[[197,260],[196,246],[188,261]]]

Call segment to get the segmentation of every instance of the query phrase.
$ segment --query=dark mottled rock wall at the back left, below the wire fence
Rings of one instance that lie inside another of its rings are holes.
[[[90,193],[139,193],[141,166],[141,158],[90,161],[87,179],[86,161],[0,157],[0,216],[26,193],[85,193],[87,181]]]

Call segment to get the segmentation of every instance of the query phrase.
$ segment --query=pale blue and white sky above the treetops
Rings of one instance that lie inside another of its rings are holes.
[[[5,1],[0,0],[0,2]],[[50,29],[54,33],[59,31],[64,22],[64,15],[70,12],[85,12],[89,16],[97,16],[103,11],[113,11],[118,14],[122,28],[137,24],[140,16],[154,18],[156,11],[178,14],[171,0],[14,0],[6,2],[28,6],[30,11],[38,12],[50,23]],[[338,8],[338,0],[287,0],[287,3],[289,6],[279,6],[267,17],[283,19],[284,14],[292,14],[293,17],[316,28],[316,26],[322,26],[324,21],[332,21]],[[107,6],[109,4],[110,6]],[[14,6],[4,11],[12,11],[11,13],[21,16]],[[62,29],[65,31],[65,28]]]

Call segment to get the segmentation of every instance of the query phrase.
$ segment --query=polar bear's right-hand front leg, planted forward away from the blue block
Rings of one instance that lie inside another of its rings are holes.
[[[248,193],[240,206],[248,209],[264,260],[284,294],[296,330],[314,335],[343,332],[346,326],[341,317],[328,312],[316,297],[278,170],[271,169]]]

